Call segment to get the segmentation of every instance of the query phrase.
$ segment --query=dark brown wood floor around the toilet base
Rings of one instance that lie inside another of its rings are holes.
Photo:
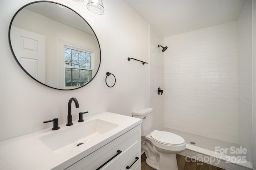
[[[196,161],[196,162],[187,162],[185,160],[185,156],[182,156],[180,154],[176,154],[177,163],[178,163],[178,169],[179,170],[224,170],[222,168],[218,168],[216,166],[212,166],[210,164],[206,164],[204,162]],[[187,160],[190,160],[190,158],[187,158]],[[141,155],[141,169],[142,170],[155,170],[154,168],[148,166],[146,164],[146,154]]]

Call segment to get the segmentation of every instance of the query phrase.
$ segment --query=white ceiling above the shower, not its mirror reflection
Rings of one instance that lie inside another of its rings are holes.
[[[235,21],[245,0],[125,0],[163,37]]]

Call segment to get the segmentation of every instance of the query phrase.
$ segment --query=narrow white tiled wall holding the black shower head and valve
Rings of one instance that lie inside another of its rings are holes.
[[[150,26],[149,31],[149,90],[150,101],[149,106],[153,108],[153,129],[161,129],[164,127],[164,53],[159,45],[164,45],[164,38],[159,35],[154,28]],[[164,90],[162,95],[158,95],[158,87]]]

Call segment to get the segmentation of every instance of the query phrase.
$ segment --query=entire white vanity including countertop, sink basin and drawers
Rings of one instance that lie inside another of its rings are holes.
[[[141,122],[106,111],[1,141],[0,169],[140,170]]]

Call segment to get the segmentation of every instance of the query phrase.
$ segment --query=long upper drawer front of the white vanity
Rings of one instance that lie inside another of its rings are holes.
[[[114,170],[120,169],[120,162],[115,163],[115,160],[118,159],[120,155],[122,155],[127,149],[140,141],[140,128],[141,125],[134,127],[130,131],[124,133],[120,137],[116,138],[115,140],[111,141],[100,149],[95,150],[80,161],[69,166],[68,168],[66,168],[66,170],[96,170],[106,161],[110,160],[110,158],[118,154],[117,150],[121,150],[122,152],[114,157],[112,160],[110,160],[105,166],[100,168],[100,170],[113,170],[113,168]]]

